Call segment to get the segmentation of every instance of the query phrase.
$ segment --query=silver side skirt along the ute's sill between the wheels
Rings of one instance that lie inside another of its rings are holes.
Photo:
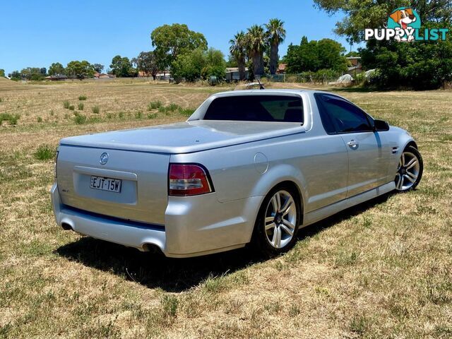
[[[364,203],[364,201],[368,201],[371,198],[376,198],[377,196],[386,194],[390,191],[393,191],[394,189],[396,189],[396,184],[394,184],[394,182],[388,182],[388,184],[381,185],[379,187],[376,187],[375,189],[365,191],[363,193],[357,194],[356,196],[338,201],[337,203],[332,203],[331,205],[313,210],[304,215],[304,222],[302,227],[314,224],[314,222],[328,218],[330,215],[338,213],[341,210],[345,210],[346,208],[355,206],[359,203]]]

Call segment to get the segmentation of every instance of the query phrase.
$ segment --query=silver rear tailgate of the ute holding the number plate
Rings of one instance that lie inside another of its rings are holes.
[[[108,155],[105,165],[100,163],[102,153]],[[168,166],[169,154],[60,145],[61,202],[92,213],[164,225]]]

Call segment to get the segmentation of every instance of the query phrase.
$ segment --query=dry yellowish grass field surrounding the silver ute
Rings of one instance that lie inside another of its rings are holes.
[[[451,91],[338,90],[408,129],[424,176],[284,256],[167,259],[57,227],[59,138],[180,121],[225,89],[0,79],[0,338],[451,338]]]

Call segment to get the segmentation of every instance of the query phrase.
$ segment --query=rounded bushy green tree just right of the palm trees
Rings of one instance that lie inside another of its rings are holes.
[[[316,72],[321,69],[346,71],[347,59],[343,56],[345,48],[331,39],[308,41],[302,37],[299,46],[290,44],[287,48],[285,62],[289,73],[306,71]]]

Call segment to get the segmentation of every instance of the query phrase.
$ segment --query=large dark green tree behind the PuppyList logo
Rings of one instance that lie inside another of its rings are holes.
[[[328,13],[343,12],[335,32],[350,43],[364,40],[364,28],[382,28],[388,15],[401,6],[411,6],[424,28],[451,28],[452,1],[355,1],[314,0]],[[369,40],[359,49],[365,69],[376,69],[371,81],[381,88],[433,89],[452,81],[452,45],[449,40],[416,41],[400,44],[394,40]]]

